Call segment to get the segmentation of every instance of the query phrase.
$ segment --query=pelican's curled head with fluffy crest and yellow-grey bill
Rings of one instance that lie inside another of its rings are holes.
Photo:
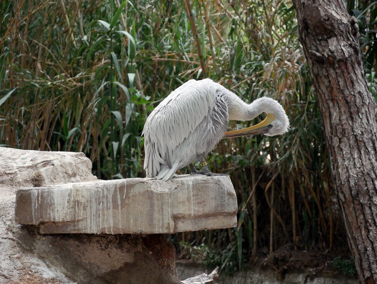
[[[248,117],[245,120],[254,119],[257,115],[265,112],[266,118],[251,127],[239,130],[227,131],[223,138],[240,137],[245,135],[264,134],[266,136],[274,136],[284,134],[289,128],[289,119],[279,102],[268,97],[256,99],[246,106]]]

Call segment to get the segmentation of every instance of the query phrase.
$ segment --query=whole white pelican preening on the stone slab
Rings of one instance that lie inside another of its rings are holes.
[[[261,123],[227,131],[229,120],[247,121],[267,113]],[[167,96],[144,125],[144,169],[147,177],[169,180],[177,169],[190,166],[191,174],[211,173],[205,157],[222,138],[250,134],[274,136],[288,131],[289,120],[279,102],[268,97],[246,104],[211,79],[185,82]],[[198,160],[202,171],[193,162]]]

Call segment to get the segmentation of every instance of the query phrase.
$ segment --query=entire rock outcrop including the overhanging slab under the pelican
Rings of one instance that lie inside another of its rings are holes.
[[[222,227],[235,225],[228,177],[179,177],[166,185],[105,182],[90,171],[82,153],[0,148],[0,283],[178,284],[175,249],[164,235],[116,233],[220,228],[222,217]],[[27,225],[15,222],[15,207]]]

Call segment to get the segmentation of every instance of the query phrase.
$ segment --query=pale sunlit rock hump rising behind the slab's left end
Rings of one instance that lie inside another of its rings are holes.
[[[0,147],[0,194],[20,187],[97,180],[84,153],[45,152]]]

